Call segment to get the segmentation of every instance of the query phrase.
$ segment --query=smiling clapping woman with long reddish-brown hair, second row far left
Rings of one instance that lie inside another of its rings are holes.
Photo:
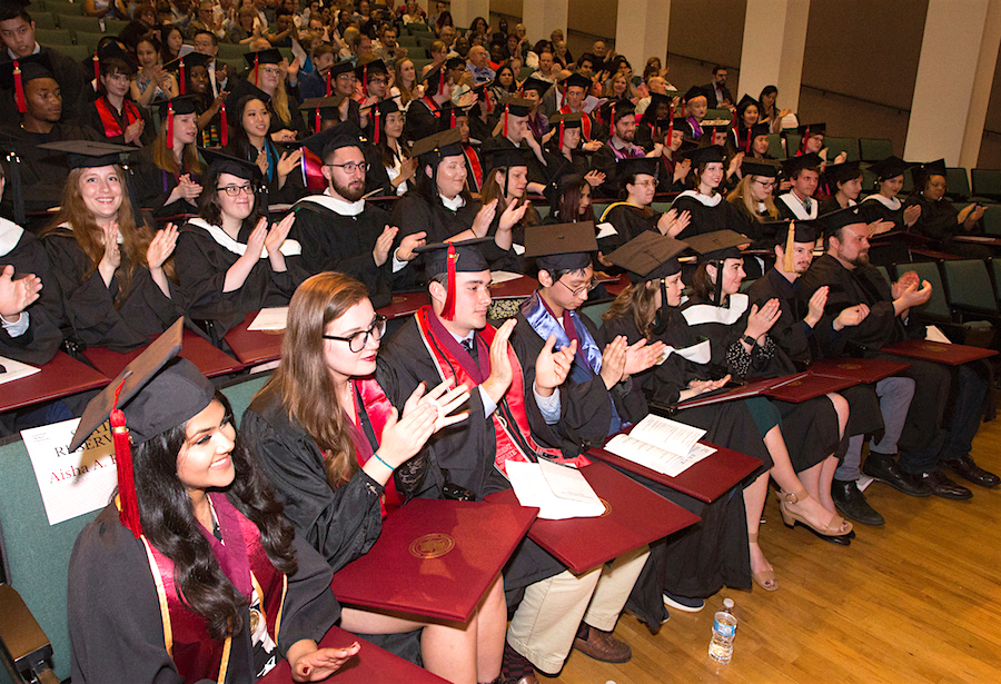
[[[135,349],[184,311],[170,260],[177,229],[155,232],[135,214],[118,155],[68,158],[75,168],[42,236],[52,267],[42,297],[61,306],[65,337]]]

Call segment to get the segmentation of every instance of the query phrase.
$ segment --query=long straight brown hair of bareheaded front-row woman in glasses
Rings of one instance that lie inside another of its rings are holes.
[[[324,454],[327,483],[337,488],[358,470],[348,429],[349,407],[340,406],[324,359],[324,331],[331,320],[368,297],[364,285],[326,271],[308,278],[288,305],[281,363],[258,396],[277,395],[288,417],[299,423]]]

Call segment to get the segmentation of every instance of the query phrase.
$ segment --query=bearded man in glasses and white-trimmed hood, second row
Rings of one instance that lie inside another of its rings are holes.
[[[425,235],[415,232],[396,241],[397,224],[385,209],[365,201],[367,162],[360,138],[356,126],[344,122],[305,141],[323,159],[327,188],[296,202],[295,235],[308,246],[303,255],[307,272],[347,274],[366,285],[376,306],[386,306],[394,274],[415,258],[414,248]]]

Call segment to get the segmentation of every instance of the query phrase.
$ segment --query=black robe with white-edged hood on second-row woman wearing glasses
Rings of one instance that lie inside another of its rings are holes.
[[[267,257],[260,258],[244,285],[224,293],[226,271],[240,258],[236,250],[246,248],[254,227],[242,226],[237,240],[219,235],[221,228],[209,228],[201,219],[181,226],[174,261],[178,266],[187,315],[195,320],[211,321],[212,336],[218,341],[227,330],[242,323],[247,314],[265,307],[288,306],[296,288],[309,274],[301,266],[299,244],[286,240],[289,254],[285,255],[285,271],[275,271]]]

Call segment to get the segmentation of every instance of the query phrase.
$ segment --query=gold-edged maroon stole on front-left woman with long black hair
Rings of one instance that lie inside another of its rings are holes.
[[[225,544],[199,525],[212,547],[212,555],[237,591],[248,599],[252,589],[260,596],[260,613],[271,641],[278,643],[281,607],[288,591],[288,578],[271,565],[260,543],[260,531],[229,503],[226,495],[212,492],[211,498]],[[145,536],[149,567],[157,585],[163,641],[185,682],[226,681],[232,637],[217,642],[209,637],[205,618],[186,605],[174,577],[174,562],[161,554]],[[244,625],[249,633],[251,625]]]

